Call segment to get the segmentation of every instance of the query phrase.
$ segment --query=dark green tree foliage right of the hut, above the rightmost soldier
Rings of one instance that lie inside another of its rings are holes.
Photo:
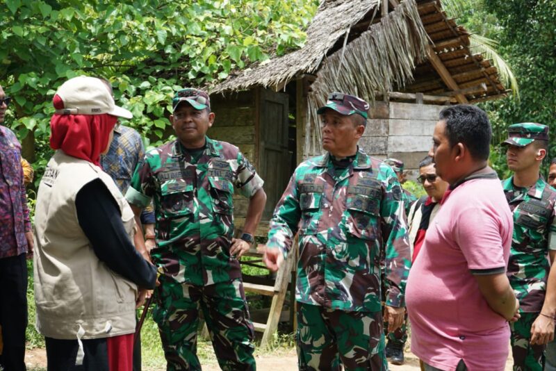
[[[482,1],[486,11],[498,19],[501,51],[512,65],[521,90],[520,100],[504,99],[485,105],[496,113],[495,138],[501,140],[505,127],[516,122],[547,124],[550,159],[556,156],[556,1]],[[501,171],[507,169],[505,161],[498,163]],[[548,163],[545,162],[546,169]]]

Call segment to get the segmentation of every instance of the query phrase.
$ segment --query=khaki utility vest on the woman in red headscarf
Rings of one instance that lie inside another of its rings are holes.
[[[36,327],[49,338],[106,338],[135,331],[136,285],[99,261],[77,220],[77,192],[95,179],[120,206],[133,240],[133,211],[111,177],[88,161],[56,151],[35,205]]]

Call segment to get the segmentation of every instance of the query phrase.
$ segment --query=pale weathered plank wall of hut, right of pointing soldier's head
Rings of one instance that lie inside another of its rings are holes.
[[[408,178],[416,179],[418,164],[432,145],[434,125],[444,107],[377,101],[369,111],[360,145],[377,158],[404,161]]]

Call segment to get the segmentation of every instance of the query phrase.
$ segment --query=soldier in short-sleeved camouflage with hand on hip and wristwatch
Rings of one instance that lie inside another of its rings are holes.
[[[206,137],[214,113],[206,92],[183,89],[172,100],[177,140],[148,151],[126,199],[140,215],[154,201],[161,272],[153,318],[167,370],[200,370],[199,310],[222,370],[255,370],[250,321],[238,258],[253,242],[266,201],[263,181],[237,147]],[[232,196],[250,199],[243,235],[234,236]]]

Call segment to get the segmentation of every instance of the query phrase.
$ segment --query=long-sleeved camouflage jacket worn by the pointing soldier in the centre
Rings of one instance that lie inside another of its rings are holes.
[[[404,306],[410,256],[403,209],[391,167],[360,150],[338,173],[325,154],[295,170],[270,222],[267,246],[286,255],[299,230],[297,301],[380,311],[385,245],[386,304]]]

